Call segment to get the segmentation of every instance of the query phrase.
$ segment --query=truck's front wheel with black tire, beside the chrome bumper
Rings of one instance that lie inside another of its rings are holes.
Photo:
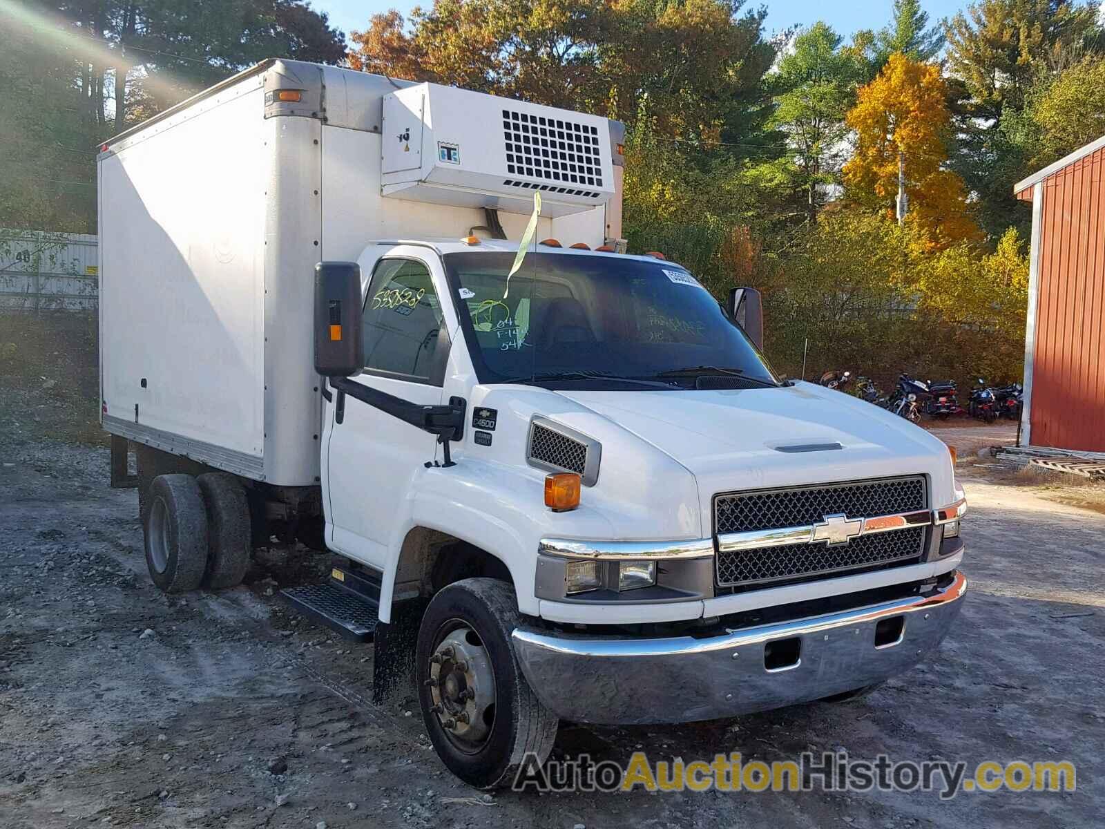
[[[543,764],[556,739],[557,718],[514,655],[520,622],[508,583],[466,578],[430,600],[419,628],[422,720],[449,770],[476,788],[508,784],[527,755]]]

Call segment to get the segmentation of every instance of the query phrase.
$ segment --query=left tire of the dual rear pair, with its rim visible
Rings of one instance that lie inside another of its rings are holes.
[[[208,559],[208,521],[191,475],[158,475],[149,487],[143,522],[146,566],[165,592],[194,590]]]

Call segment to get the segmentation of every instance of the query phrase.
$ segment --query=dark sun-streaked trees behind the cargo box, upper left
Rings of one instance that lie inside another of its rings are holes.
[[[95,229],[95,146],[265,57],[344,60],[303,0],[0,3],[0,227]]]

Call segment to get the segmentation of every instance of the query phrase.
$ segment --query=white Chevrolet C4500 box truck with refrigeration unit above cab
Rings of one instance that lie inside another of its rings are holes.
[[[287,600],[372,639],[475,786],[559,720],[863,693],[966,592],[947,448],[780,377],[755,291],[625,253],[621,140],[269,61],[98,156],[102,418],[150,576],[329,550]]]

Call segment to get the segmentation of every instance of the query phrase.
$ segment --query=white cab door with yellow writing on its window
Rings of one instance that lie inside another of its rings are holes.
[[[441,402],[455,329],[441,301],[445,285],[436,258],[386,254],[377,261],[362,314],[366,365],[355,382],[414,403]],[[440,453],[436,437],[349,396],[338,423],[336,402],[334,395],[326,403],[323,436],[326,541],[382,569],[409,512],[412,479]]]

